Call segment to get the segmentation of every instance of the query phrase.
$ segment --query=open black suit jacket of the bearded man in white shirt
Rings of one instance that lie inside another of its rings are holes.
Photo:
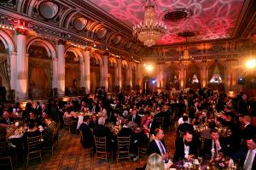
[[[194,139],[194,137],[193,137]],[[189,143],[189,155],[193,154],[195,156],[197,156],[198,154],[198,145],[195,144],[195,140],[192,140]],[[173,161],[179,161],[179,159],[183,159],[185,156],[184,154],[184,141],[183,138],[178,138],[175,141],[175,152],[174,152],[174,156],[173,156]]]

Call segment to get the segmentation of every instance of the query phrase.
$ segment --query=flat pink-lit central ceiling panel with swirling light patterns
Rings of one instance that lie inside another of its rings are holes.
[[[244,0],[156,0],[156,19],[168,27],[169,32],[163,36],[159,45],[184,42],[177,37],[180,31],[196,31],[190,41],[229,38],[236,26]],[[127,26],[134,26],[143,21],[143,0],[90,0],[97,6],[112,14]],[[179,21],[163,20],[165,11],[176,8],[192,10],[191,17]]]

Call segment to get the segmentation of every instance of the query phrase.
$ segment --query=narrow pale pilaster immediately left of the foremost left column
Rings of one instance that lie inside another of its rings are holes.
[[[17,80],[17,53],[11,52],[9,54],[10,57],[10,88],[16,91],[16,80]]]

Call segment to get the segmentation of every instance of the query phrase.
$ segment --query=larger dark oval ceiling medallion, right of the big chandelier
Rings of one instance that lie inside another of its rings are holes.
[[[174,11],[165,11],[163,14],[163,20],[165,21],[179,21],[185,18],[189,18],[193,15],[192,10],[187,8],[176,8]]]

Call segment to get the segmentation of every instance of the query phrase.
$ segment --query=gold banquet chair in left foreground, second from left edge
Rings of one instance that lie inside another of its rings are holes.
[[[40,158],[42,162],[42,154],[41,154],[41,139],[42,136],[36,137],[27,137],[27,161],[26,161],[26,169],[28,167],[28,162],[33,159]]]

